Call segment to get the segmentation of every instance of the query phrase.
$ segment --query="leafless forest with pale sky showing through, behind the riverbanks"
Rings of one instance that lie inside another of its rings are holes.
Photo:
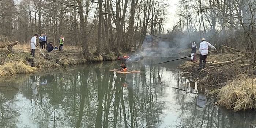
[[[217,48],[255,53],[255,15],[256,0],[0,0],[0,40],[28,43],[35,33],[47,33],[56,44],[63,34],[65,45],[90,56],[90,48],[95,55],[131,52],[145,39],[150,47],[188,47],[206,38]]]

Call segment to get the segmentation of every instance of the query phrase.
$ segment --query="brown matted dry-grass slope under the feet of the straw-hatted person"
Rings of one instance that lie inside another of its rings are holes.
[[[218,54],[211,55],[207,57],[206,67],[214,66],[213,61],[228,61],[237,58],[234,54]],[[223,86],[228,80],[233,80],[237,78],[239,74],[250,74],[251,65],[243,63],[242,61],[236,61],[231,64],[226,64],[221,67],[214,67],[205,69],[203,71],[197,71],[199,68],[199,61],[196,63],[187,61],[180,65],[178,68],[182,69],[184,72],[189,72],[185,74],[187,77],[197,78],[200,84],[212,85],[212,86]]]

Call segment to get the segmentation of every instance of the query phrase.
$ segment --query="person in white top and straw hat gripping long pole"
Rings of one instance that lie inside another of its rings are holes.
[[[206,58],[207,58],[207,55],[208,55],[208,46],[217,50],[213,45],[211,45],[209,42],[206,42],[205,39],[202,38],[201,43],[200,43],[200,48],[199,48],[200,58],[199,58],[199,69],[198,70],[205,68]],[[204,61],[203,66],[202,66],[202,61]]]

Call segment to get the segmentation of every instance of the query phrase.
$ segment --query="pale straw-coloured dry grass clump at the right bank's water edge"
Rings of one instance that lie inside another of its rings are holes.
[[[234,79],[221,89],[212,91],[210,94],[217,95],[217,105],[236,112],[256,110],[256,79]]]

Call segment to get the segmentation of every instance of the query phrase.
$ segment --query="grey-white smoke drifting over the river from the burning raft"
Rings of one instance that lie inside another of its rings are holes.
[[[142,49],[130,55],[127,62],[137,62],[142,61],[146,58],[178,58],[183,57],[184,49],[191,48],[192,42],[197,42],[199,44],[200,39],[197,37],[189,36],[178,36],[178,34],[167,35],[165,38],[158,38],[152,35],[145,37]],[[181,53],[181,54],[180,54]]]

